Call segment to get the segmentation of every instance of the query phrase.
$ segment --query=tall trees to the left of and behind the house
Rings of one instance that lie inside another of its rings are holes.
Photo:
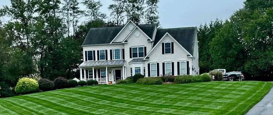
[[[113,0],[109,16],[100,12],[99,0],[10,3],[0,9],[0,82],[11,87],[20,76],[33,73],[49,80],[79,77],[81,45],[90,28],[122,26],[128,20],[159,25],[159,0]],[[3,17],[10,20],[4,22]],[[83,18],[88,20],[80,23]]]

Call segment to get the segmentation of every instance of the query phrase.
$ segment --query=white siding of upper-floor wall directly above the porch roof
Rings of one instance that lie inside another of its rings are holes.
[[[84,46],[83,47],[83,60],[84,60],[84,62],[86,62],[85,61],[85,51],[95,50],[95,59],[96,59],[96,61],[98,61],[97,50],[104,50],[104,49],[107,50],[107,59],[110,60],[110,49],[116,49],[116,48],[124,49],[124,44]]]

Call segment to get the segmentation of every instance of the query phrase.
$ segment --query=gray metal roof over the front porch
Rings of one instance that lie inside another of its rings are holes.
[[[107,66],[107,65],[124,65],[125,60],[104,60],[104,61],[89,61],[82,62],[79,67],[87,67],[87,66]]]

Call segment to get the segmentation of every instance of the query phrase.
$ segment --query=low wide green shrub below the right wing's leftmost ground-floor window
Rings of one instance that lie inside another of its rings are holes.
[[[158,77],[140,78],[136,81],[136,84],[145,84],[145,85],[161,85],[162,83],[163,83],[162,79]]]

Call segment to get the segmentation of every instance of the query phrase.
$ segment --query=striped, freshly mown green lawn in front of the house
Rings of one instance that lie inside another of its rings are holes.
[[[0,114],[244,115],[273,83],[101,85],[0,98]]]

